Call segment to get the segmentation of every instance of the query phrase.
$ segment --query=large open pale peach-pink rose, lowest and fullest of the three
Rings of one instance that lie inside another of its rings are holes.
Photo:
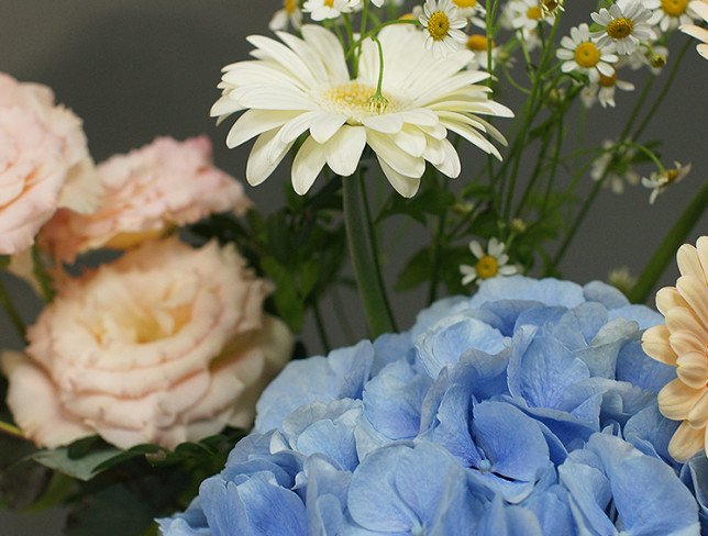
[[[3,356],[15,422],[52,448],[97,433],[172,448],[248,426],[292,348],[263,313],[269,291],[233,247],[176,238],[69,281],[29,328],[26,355]]]

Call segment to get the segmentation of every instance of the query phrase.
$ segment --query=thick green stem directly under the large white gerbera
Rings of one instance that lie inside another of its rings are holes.
[[[374,250],[370,220],[364,193],[364,172],[342,180],[346,238],[354,266],[354,275],[372,336],[394,332],[395,322],[378,277],[380,272]]]

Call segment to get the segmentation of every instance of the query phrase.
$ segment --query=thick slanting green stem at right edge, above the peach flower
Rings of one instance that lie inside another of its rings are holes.
[[[652,258],[646,263],[644,270],[639,276],[637,284],[630,292],[629,298],[632,302],[643,303],[646,301],[646,298],[666,269],[666,266],[675,257],[677,249],[686,241],[688,233],[690,233],[706,211],[706,206],[708,206],[708,185],[704,185],[698,191],[694,200],[686,206],[684,213],[656,248]]]

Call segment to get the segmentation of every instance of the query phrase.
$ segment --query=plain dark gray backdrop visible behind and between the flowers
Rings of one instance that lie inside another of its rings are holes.
[[[583,2],[587,8],[573,3],[567,22],[588,20],[586,10],[591,9],[591,3]],[[207,133],[213,141],[217,164],[242,178],[248,147],[228,150],[223,143],[228,127],[214,127],[208,111],[219,94],[215,86],[220,68],[245,59],[248,45],[244,37],[267,33],[276,9],[277,0],[2,0],[0,70],[20,80],[51,86],[57,100],[84,119],[97,161],[146,144],[157,135],[185,138]],[[673,40],[673,49],[677,49],[678,42],[683,36]],[[522,75],[519,67],[516,75]],[[642,188],[630,189],[623,196],[604,191],[562,266],[566,278],[578,282],[604,279],[610,268],[621,265],[637,273],[705,181],[707,81],[708,63],[692,48],[678,82],[644,135],[644,141],[665,142],[665,164],[674,159],[693,163],[692,175],[653,206],[648,204],[649,191]],[[590,132],[599,134],[590,134],[589,141],[601,139],[597,136],[602,133],[611,137],[619,132],[633,97],[618,93],[617,109],[593,109]],[[512,96],[500,96],[498,100],[512,108],[516,103]],[[497,124],[504,131],[502,123]],[[467,153],[466,158],[474,161],[463,161],[460,181],[466,180],[465,170],[473,174],[482,156]],[[283,180],[287,180],[287,172],[280,170],[258,188],[246,187],[246,191],[261,210],[269,212],[281,203]],[[392,257],[405,259],[407,250],[419,247],[420,228],[406,228],[409,233],[403,236],[400,254]],[[706,230],[708,217],[704,216],[692,242]],[[399,233],[389,232],[386,239],[401,243]],[[675,275],[672,266],[663,284],[671,283]],[[36,301],[22,284],[10,284],[31,319]],[[352,316],[359,316],[358,305],[351,306]],[[421,306],[421,295],[396,297],[395,306],[406,327]],[[334,335],[338,344],[352,342],[342,334]],[[319,349],[311,319],[305,338],[310,348]],[[18,340],[0,312],[0,347],[9,346],[16,347]],[[26,517],[0,513],[0,534],[59,534],[59,517],[60,514]]]

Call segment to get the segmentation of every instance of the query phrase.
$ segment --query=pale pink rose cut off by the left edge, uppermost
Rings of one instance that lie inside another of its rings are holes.
[[[58,206],[92,210],[98,189],[81,121],[0,72],[0,255],[29,248]]]

